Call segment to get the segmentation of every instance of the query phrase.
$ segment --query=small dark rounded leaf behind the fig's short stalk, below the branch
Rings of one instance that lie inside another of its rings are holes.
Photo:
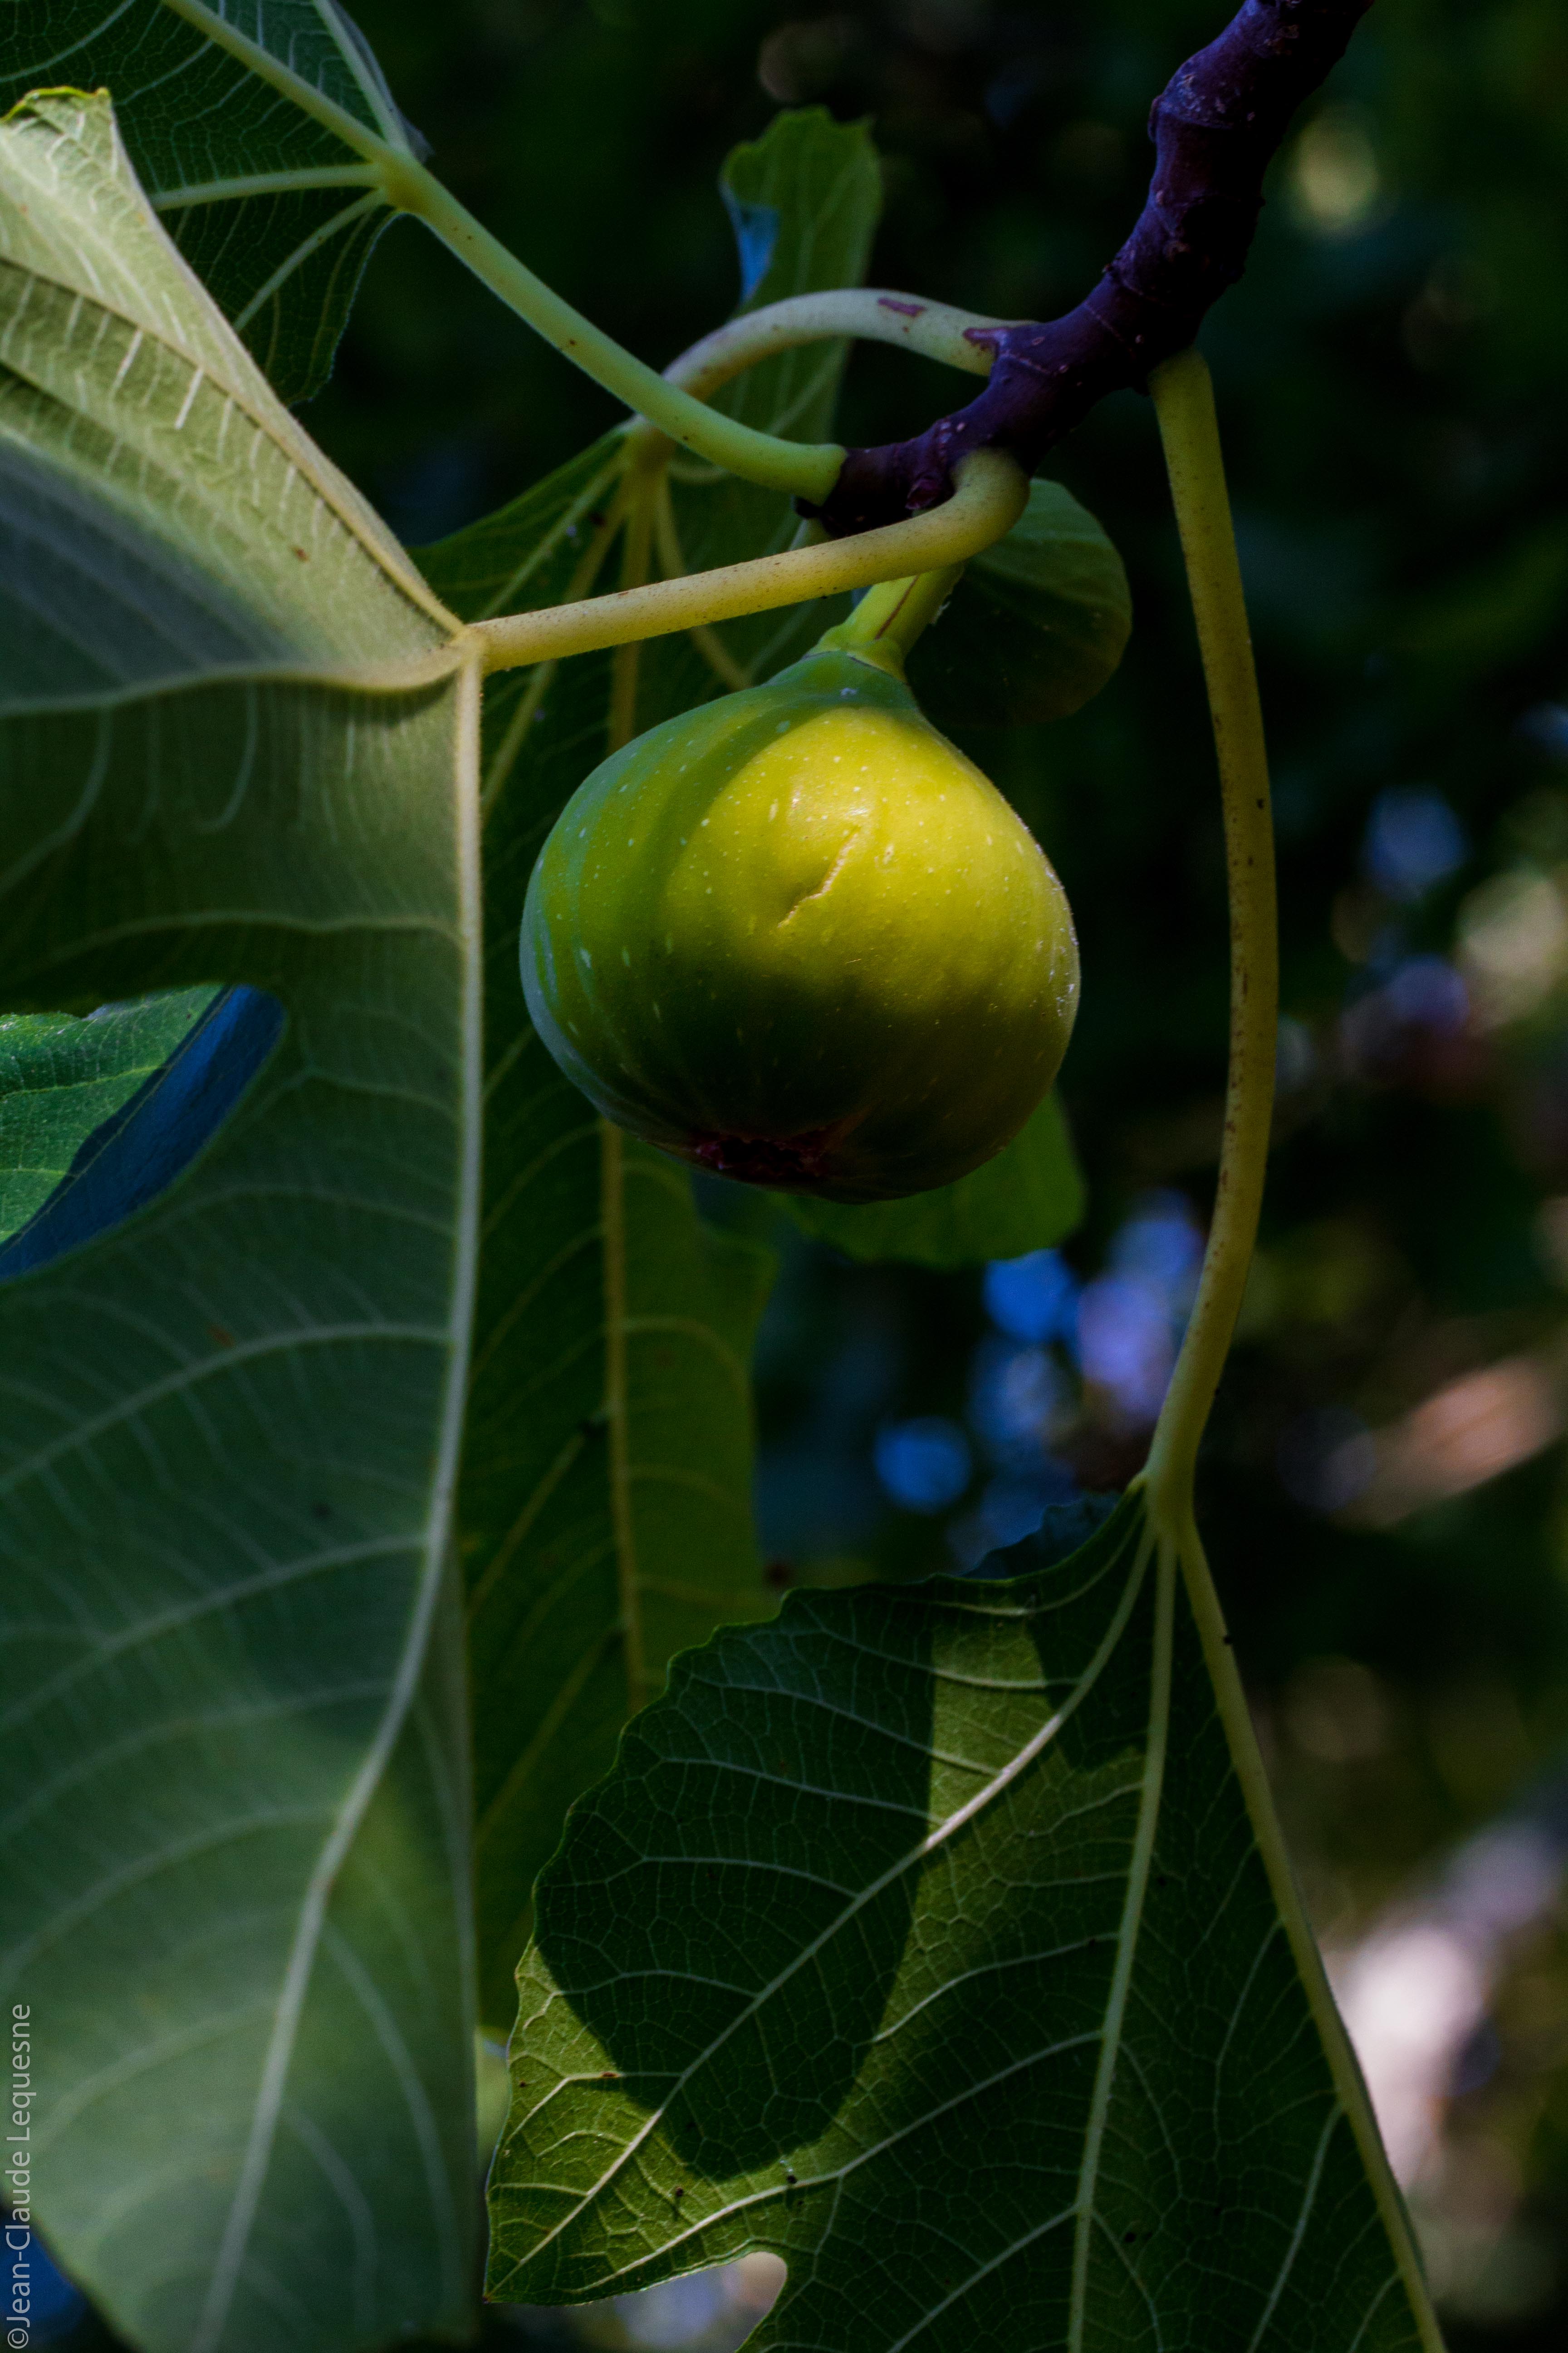
[[[1065,720],[1107,682],[1133,626],[1114,546],[1060,482],[1030,482],[1006,539],[976,555],[910,656],[933,727]]]

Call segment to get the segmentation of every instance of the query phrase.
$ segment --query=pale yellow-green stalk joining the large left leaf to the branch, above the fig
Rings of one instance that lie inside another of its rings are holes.
[[[976,449],[959,468],[952,499],[905,522],[889,522],[856,539],[785,548],[783,555],[757,555],[743,565],[719,565],[715,572],[651,581],[646,588],[621,588],[574,605],[473,621],[465,635],[480,642],[487,671],[515,671],[529,661],[630,645],[635,638],[668,638],[682,628],[708,628],[748,612],[839,595],[844,588],[940,572],[1011,532],[1027,496],[1030,485],[1011,456],[999,449]]]

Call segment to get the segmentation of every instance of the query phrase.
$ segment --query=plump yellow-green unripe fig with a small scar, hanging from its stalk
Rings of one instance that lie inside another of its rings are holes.
[[[818,647],[574,793],[529,882],[522,984],[621,1127],[856,1202],[952,1184],[1018,1134],[1079,955],[1039,845],[896,656]]]

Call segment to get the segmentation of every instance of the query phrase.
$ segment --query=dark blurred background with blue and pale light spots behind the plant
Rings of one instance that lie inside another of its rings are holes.
[[[1074,304],[1145,115],[1227,0],[357,0],[456,193],[656,365],[736,299],[715,176],[778,106],[870,118],[872,275]],[[1213,315],[1276,776],[1272,1186],[1201,1515],[1265,1755],[1453,2353],[1568,2341],[1568,19],[1375,0]],[[969,388],[858,353],[844,438]],[[411,544],[616,416],[437,245],[378,247],[310,431]],[[1072,896],[1088,1219],[971,1275],[778,1233],[773,1581],[973,1567],[1138,1468],[1225,1075],[1201,680],[1150,405],[1058,473],[1133,642],[1051,729],[976,732]],[[498,2339],[701,2346],[769,2259]],[[56,2327],[89,2334],[68,2301]],[[574,2334],[576,2329],[576,2334]]]

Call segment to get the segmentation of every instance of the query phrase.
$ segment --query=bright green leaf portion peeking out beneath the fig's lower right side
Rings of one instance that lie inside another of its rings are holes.
[[[856,1207],[780,1193],[797,1226],[851,1259],[907,1259],[912,1266],[983,1266],[1051,1249],[1084,1214],[1084,1176],[1056,1094],[994,1160],[957,1184]]]

